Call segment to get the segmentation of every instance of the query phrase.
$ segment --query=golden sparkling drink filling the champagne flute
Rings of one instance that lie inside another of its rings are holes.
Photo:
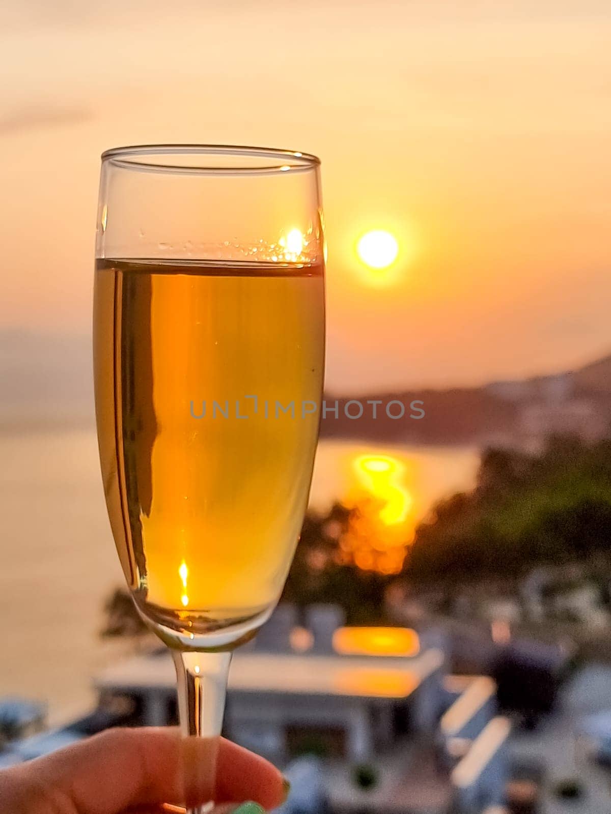
[[[95,403],[134,598],[203,633],[261,613],[286,578],[318,437],[323,269],[180,263],[98,261]]]

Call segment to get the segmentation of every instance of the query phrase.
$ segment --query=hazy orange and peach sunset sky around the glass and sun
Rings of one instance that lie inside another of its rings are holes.
[[[608,0],[3,6],[4,328],[85,341],[104,148],[228,142],[323,161],[327,387],[611,352]],[[387,287],[355,252],[373,229]]]

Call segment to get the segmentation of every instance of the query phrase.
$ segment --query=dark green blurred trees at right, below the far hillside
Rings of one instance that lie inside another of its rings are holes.
[[[490,449],[477,486],[438,503],[416,530],[420,579],[518,574],[609,549],[611,440],[555,437],[537,456]]]

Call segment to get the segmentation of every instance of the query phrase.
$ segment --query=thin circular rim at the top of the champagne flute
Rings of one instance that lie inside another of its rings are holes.
[[[194,155],[226,157],[226,164],[209,166],[196,162],[187,164],[169,163],[171,156]],[[166,158],[156,162],[154,156]],[[229,159],[244,157],[253,163],[244,166],[231,165]],[[258,160],[258,164],[256,163]],[[204,175],[262,175],[270,173],[304,172],[315,169],[320,164],[317,155],[301,151],[283,150],[275,147],[250,147],[235,144],[135,144],[128,147],[112,147],[102,153],[102,162],[135,171],[153,173],[181,173]],[[263,162],[263,163],[262,163]]]

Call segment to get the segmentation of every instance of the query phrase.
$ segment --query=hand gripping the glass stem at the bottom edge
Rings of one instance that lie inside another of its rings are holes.
[[[204,760],[204,741],[190,758]],[[46,757],[0,771],[7,814],[162,814],[182,811],[183,751],[178,729],[108,729]],[[284,801],[286,781],[263,758],[221,739],[214,814],[257,814]],[[206,789],[190,790],[206,803]],[[240,806],[243,800],[251,801]],[[169,803],[169,805],[164,805]]]

